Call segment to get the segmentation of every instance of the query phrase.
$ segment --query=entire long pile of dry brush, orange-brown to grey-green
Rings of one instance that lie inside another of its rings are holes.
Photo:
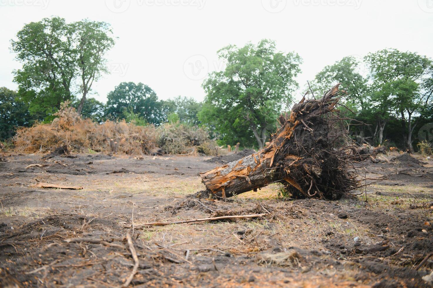
[[[118,153],[128,155],[150,155],[158,151],[167,154],[204,153],[215,154],[216,142],[209,133],[201,128],[181,123],[165,123],[137,126],[107,120],[102,124],[83,119],[70,107],[62,103],[52,123],[36,123],[34,126],[20,128],[14,137],[18,152],[50,152],[58,147],[67,147],[70,152],[112,152],[110,139],[117,142]]]

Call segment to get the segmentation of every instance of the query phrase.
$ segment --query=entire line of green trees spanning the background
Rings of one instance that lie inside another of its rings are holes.
[[[206,126],[220,145],[240,142],[259,148],[275,131],[279,113],[299,98],[295,79],[301,73],[301,56],[280,52],[274,42],[264,39],[217,52],[226,68],[203,81],[202,103],[180,96],[159,100],[151,87],[123,82],[103,104],[88,95],[94,81],[107,72],[104,57],[114,41],[107,23],[68,24],[53,17],[26,24],[12,41],[12,51],[23,64],[14,71],[19,89],[0,90],[0,138],[13,136],[17,126],[49,123],[60,104],[71,100],[84,118],[98,123],[125,119],[142,126],[167,122]],[[417,137],[420,127],[433,121],[433,62],[427,56],[385,49],[363,59],[343,57],[301,90],[320,97],[336,83],[349,93],[343,110],[348,123],[354,124],[351,136],[360,145],[414,150],[423,140]]]

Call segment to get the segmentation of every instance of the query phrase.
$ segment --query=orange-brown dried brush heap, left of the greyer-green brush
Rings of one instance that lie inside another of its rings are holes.
[[[125,154],[150,154],[155,148],[155,126],[136,126],[132,123],[107,121],[103,124],[82,119],[69,103],[62,104],[52,123],[36,123],[20,128],[14,137],[20,152],[48,152],[67,146],[72,152],[111,152],[110,139],[118,143],[118,152]]]

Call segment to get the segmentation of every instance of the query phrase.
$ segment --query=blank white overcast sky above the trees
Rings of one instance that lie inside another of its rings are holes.
[[[263,38],[301,55],[301,87],[347,55],[396,48],[433,57],[433,0],[0,0],[0,87],[17,88],[10,39],[49,16],[112,25],[111,73],[90,95],[103,102],[122,81],[147,84],[160,99],[203,100],[206,72],[224,65],[216,51]]]

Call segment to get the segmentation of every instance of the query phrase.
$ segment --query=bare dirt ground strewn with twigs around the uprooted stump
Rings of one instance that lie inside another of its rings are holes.
[[[365,191],[339,201],[283,199],[273,184],[223,202],[189,196],[204,189],[198,173],[220,165],[209,157],[3,156],[3,287],[120,286],[134,265],[121,239],[132,220],[255,213],[268,215],[134,229],[139,267],[131,285],[431,287],[421,277],[433,259],[416,267],[433,252],[433,209],[410,205],[433,201],[433,162],[368,163],[368,178],[388,180],[368,186],[367,199]],[[65,241],[73,238],[81,239]]]

